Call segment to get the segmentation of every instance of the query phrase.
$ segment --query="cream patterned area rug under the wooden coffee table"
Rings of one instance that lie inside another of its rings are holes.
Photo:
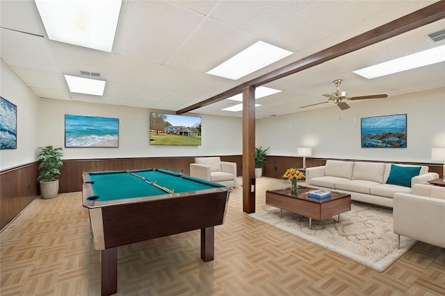
[[[401,248],[397,248],[397,235],[392,224],[392,210],[370,204],[353,202],[351,211],[318,221],[280,209],[259,211],[252,218],[289,232],[311,243],[325,247],[348,259],[376,270],[385,271],[416,243],[412,238],[401,236]]]

